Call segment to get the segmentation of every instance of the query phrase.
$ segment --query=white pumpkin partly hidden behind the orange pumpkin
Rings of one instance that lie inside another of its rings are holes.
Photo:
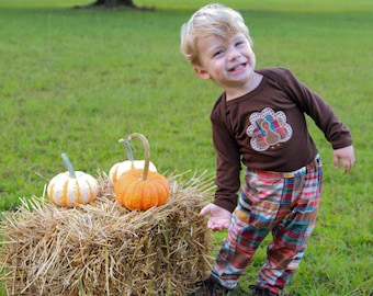
[[[113,184],[115,184],[115,182],[120,179],[120,177],[124,172],[127,172],[133,169],[144,169],[145,166],[145,160],[134,160],[134,156],[132,153],[128,140],[120,139],[118,141],[124,144],[127,150],[128,160],[117,162],[110,169],[109,179]],[[149,171],[157,172],[157,168],[151,161],[149,162]]]

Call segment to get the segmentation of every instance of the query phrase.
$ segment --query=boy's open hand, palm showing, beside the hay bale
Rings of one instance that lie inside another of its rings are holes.
[[[214,231],[229,227],[230,212],[215,204],[208,204],[201,209],[200,216],[210,215],[207,227]]]

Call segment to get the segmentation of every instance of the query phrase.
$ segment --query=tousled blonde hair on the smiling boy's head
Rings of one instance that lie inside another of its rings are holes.
[[[197,10],[182,25],[180,52],[192,65],[200,66],[196,46],[199,38],[213,34],[226,39],[237,33],[242,33],[252,45],[249,29],[238,11],[217,3],[208,4]]]

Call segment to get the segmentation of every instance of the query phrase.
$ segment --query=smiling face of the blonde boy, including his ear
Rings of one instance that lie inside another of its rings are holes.
[[[226,41],[208,35],[199,39],[196,45],[201,66],[194,66],[194,71],[202,79],[213,79],[225,90],[245,88],[250,81],[256,56],[242,33]]]

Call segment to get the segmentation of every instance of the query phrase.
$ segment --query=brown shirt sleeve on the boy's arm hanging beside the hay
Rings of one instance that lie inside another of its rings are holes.
[[[213,143],[217,152],[214,204],[234,212],[240,187],[240,152],[224,122],[212,116]]]

